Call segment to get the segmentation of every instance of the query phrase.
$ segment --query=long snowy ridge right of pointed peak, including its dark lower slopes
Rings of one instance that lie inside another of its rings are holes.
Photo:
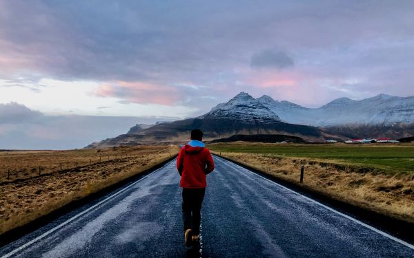
[[[414,96],[380,94],[364,100],[338,98],[317,109],[277,101],[270,96],[257,98],[284,122],[311,125],[343,138],[393,139],[414,136]]]

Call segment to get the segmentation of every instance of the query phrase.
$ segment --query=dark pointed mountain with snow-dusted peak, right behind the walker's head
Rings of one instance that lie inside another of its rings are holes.
[[[137,133],[95,142],[87,148],[185,142],[189,139],[190,130],[195,128],[204,131],[204,140],[228,138],[237,134],[264,134],[296,136],[308,141],[323,142],[325,136],[317,127],[282,122],[277,114],[259,100],[242,92],[227,103],[217,105],[203,116],[163,122]]]

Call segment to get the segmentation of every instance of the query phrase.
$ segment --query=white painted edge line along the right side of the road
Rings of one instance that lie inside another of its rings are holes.
[[[228,162],[228,160],[225,160],[224,158],[220,158],[217,155],[215,155],[215,157]],[[224,162],[224,164],[227,164],[227,163]],[[414,246],[412,244],[407,243],[406,241],[403,241],[401,239],[398,239],[397,237],[393,237],[392,235],[389,235],[389,234],[385,233],[382,230],[379,230],[377,228],[374,228],[373,226],[369,226],[368,224],[365,224],[364,222],[360,222],[359,220],[354,219],[353,217],[350,217],[350,216],[348,216],[348,215],[346,215],[344,213],[341,213],[339,211],[336,211],[333,208],[328,207],[328,206],[326,206],[324,204],[321,204],[320,202],[317,202],[317,201],[315,201],[315,200],[313,200],[313,199],[311,199],[309,197],[306,197],[305,195],[302,195],[300,193],[297,193],[297,192],[293,191],[292,189],[288,189],[286,186],[282,186],[282,184],[277,184],[277,182],[273,182],[272,180],[269,180],[268,178],[264,178],[262,175],[259,175],[259,174],[255,173],[253,171],[248,170],[248,169],[245,169],[243,166],[240,166],[239,164],[235,164],[233,162],[230,162],[230,164],[232,164],[233,166],[238,166],[239,168],[243,169],[244,171],[248,171],[249,173],[252,173],[253,175],[257,175],[259,178],[263,178],[264,180],[267,180],[268,182],[272,182],[273,184],[276,184],[277,186],[280,186],[283,189],[286,189],[286,190],[288,190],[288,191],[290,191],[292,193],[295,193],[295,194],[297,194],[297,195],[299,195],[301,197],[304,197],[306,200],[309,200],[309,201],[311,201],[311,202],[313,202],[313,203],[315,203],[315,204],[317,204],[319,206],[322,206],[322,207],[328,209],[329,211],[332,211],[333,213],[336,213],[338,215],[341,215],[342,217],[346,217],[347,219],[351,219],[353,222],[355,222],[355,223],[357,223],[357,224],[359,224],[361,226],[364,226],[364,227],[366,227],[368,229],[371,229],[374,232],[383,235],[384,237],[388,237],[389,239],[392,239],[392,240],[394,240],[394,241],[396,241],[396,242],[398,242],[400,244],[403,244],[404,246],[406,246],[406,247],[411,248],[411,249],[414,250]],[[227,165],[230,166],[230,164],[227,164]]]

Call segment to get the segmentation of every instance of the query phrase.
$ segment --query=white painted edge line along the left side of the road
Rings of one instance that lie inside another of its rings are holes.
[[[165,164],[164,166],[168,166],[168,164],[170,164],[171,162],[174,162],[175,160],[171,160],[170,162],[168,162],[167,164]],[[141,180],[144,180],[145,178],[147,178],[149,175],[152,175],[153,173],[159,171],[160,169],[163,169],[164,166],[161,166],[159,169],[149,173],[148,175],[145,175],[143,178],[140,178],[137,182],[134,182],[132,184],[130,184],[129,186],[126,186],[124,189],[121,189],[119,191],[117,191],[117,193],[114,193],[113,195],[110,195],[108,197],[106,197],[104,200],[101,200],[101,202],[98,202],[97,204],[95,204],[94,206],[91,206],[90,208],[86,209],[85,211],[82,211],[81,213],[78,213],[77,215],[75,215],[74,217],[71,217],[70,219],[66,220],[66,222],[62,222],[61,224],[59,224],[58,226],[55,226],[55,228],[51,228],[50,230],[46,231],[45,233],[43,233],[42,235],[39,235],[39,237],[36,237],[34,239],[32,239],[31,241],[28,241],[26,244],[23,244],[23,246],[19,246],[18,248],[12,250],[11,252],[9,252],[6,255],[3,255],[1,258],[7,258],[10,257],[12,255],[14,255],[16,252],[19,252],[21,250],[23,250],[24,248],[30,246],[31,244],[34,244],[35,242],[39,241],[40,239],[42,239],[43,237],[46,237],[47,235],[49,235],[50,233],[55,232],[56,230],[58,230],[59,228],[65,226],[66,224],[72,222],[73,220],[77,219],[78,217],[81,217],[81,215],[84,215],[85,213],[88,213],[89,211],[92,211],[94,208],[96,208],[97,206],[103,204],[104,202],[108,202],[108,200],[111,200],[114,197],[117,197],[117,195],[124,193],[124,191],[130,189],[132,186],[134,186],[135,184],[137,184],[138,182],[140,182]]]

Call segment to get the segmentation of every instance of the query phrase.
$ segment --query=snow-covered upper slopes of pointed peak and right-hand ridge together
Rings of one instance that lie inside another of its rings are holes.
[[[268,95],[253,98],[246,92],[227,103],[220,103],[199,116],[230,118],[248,123],[275,121],[315,127],[349,125],[395,125],[414,123],[414,96],[398,97],[380,94],[364,100],[338,98],[319,108],[307,108],[286,100],[277,101]]]

